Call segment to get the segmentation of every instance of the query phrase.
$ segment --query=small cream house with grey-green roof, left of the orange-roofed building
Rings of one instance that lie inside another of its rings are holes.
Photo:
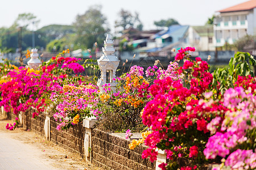
[[[185,35],[186,46],[194,46],[196,50],[210,51],[214,50],[213,43],[213,25],[191,26]]]

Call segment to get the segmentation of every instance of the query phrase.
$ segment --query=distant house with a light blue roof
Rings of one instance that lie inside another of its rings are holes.
[[[151,42],[147,46],[155,46],[155,48],[163,48],[176,42],[184,42],[184,35],[188,31],[188,25],[171,25],[167,30],[160,31],[151,36]]]

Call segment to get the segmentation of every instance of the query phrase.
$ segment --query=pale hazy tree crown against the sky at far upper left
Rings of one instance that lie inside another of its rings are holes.
[[[23,29],[27,29],[31,24],[38,26],[40,20],[36,19],[36,16],[31,13],[23,13],[19,14],[18,18],[14,21],[12,27],[23,27]]]

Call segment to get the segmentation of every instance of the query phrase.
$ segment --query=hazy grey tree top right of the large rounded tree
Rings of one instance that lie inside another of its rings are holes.
[[[143,25],[139,19],[138,12],[135,12],[133,15],[130,11],[121,9],[121,11],[118,12],[118,15],[120,18],[115,21],[115,27],[122,27],[123,30],[129,27],[136,27],[137,29],[142,30]]]

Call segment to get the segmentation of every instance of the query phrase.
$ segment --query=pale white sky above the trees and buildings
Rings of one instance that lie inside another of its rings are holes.
[[[90,6],[101,5],[102,14],[113,31],[118,12],[123,8],[139,13],[143,29],[154,29],[154,21],[174,18],[181,25],[204,25],[216,11],[246,0],[0,0],[0,27],[10,27],[19,14],[30,12],[40,19],[38,28],[49,24],[70,25],[77,14]]]

